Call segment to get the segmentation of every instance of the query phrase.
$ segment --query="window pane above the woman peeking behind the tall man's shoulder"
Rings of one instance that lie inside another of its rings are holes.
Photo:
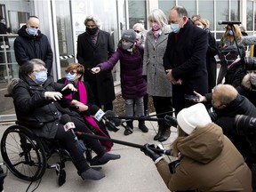
[[[214,16],[213,16],[213,0],[199,0],[198,1],[198,14],[202,18],[210,21],[210,29],[214,28]],[[192,16],[192,15],[191,15]]]

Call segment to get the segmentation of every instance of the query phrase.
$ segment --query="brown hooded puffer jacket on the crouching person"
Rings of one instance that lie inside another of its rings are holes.
[[[217,124],[196,129],[178,143],[182,159],[171,174],[160,160],[157,170],[170,191],[252,192],[252,172]]]

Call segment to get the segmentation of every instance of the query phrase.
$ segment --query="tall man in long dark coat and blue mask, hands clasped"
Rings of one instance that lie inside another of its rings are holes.
[[[208,34],[188,19],[184,7],[174,6],[169,15],[172,33],[164,53],[164,68],[172,82],[172,103],[177,115],[182,108],[195,104],[185,99],[193,91],[208,92],[206,52]]]

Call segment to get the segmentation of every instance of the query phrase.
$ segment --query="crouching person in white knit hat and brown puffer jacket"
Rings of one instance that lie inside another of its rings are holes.
[[[202,103],[183,108],[177,116],[178,138],[172,144],[179,164],[168,164],[148,148],[170,191],[252,191],[252,172],[236,147],[212,120]],[[170,167],[170,168],[169,168]],[[174,172],[174,173],[172,173]]]

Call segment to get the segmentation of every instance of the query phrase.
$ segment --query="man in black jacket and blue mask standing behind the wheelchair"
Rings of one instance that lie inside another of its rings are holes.
[[[30,16],[26,25],[18,31],[17,38],[14,40],[15,58],[21,66],[28,60],[44,60],[48,70],[48,76],[52,71],[52,48],[47,36],[39,30],[39,19]]]

